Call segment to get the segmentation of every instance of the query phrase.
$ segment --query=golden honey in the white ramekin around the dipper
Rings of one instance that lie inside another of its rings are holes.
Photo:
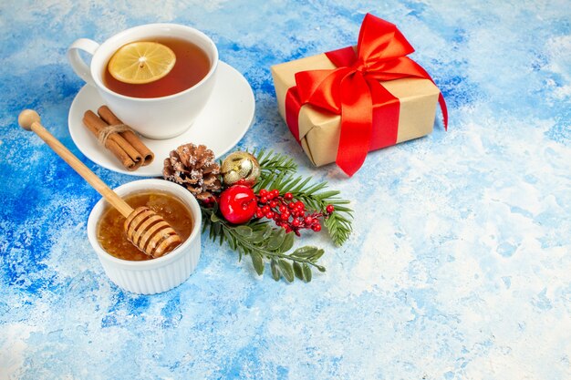
[[[181,237],[182,242],[191,236],[193,221],[189,208],[181,200],[163,191],[145,191],[130,194],[123,199],[130,207],[136,209],[146,206],[155,211],[171,225]],[[127,239],[123,223],[123,217],[113,207],[103,211],[97,226],[97,238],[99,245],[105,252],[122,260],[143,261],[151,260],[152,257],[141,252],[132,242]]]

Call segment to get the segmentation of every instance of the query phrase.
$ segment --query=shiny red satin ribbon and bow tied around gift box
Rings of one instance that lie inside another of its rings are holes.
[[[296,73],[296,87],[288,91],[285,106],[286,121],[296,139],[299,140],[299,108],[311,104],[341,115],[336,162],[349,176],[361,167],[369,149],[394,145],[397,142],[400,103],[379,81],[403,77],[432,80],[419,64],[407,56],[413,51],[397,26],[374,15],[365,15],[358,36],[357,54],[351,46],[328,52],[327,57],[337,68]],[[439,102],[444,128],[448,128],[448,113],[442,95]],[[383,126],[385,136],[381,137],[383,141],[378,146],[371,144],[373,135],[379,135],[373,131],[373,118],[377,119],[373,115],[374,107],[388,107],[382,118],[384,122],[389,121],[389,125]]]

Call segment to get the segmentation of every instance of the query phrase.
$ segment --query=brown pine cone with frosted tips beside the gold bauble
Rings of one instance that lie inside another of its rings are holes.
[[[214,159],[214,153],[204,145],[181,145],[171,150],[169,158],[164,160],[162,176],[165,180],[179,183],[192,192],[197,200],[208,200],[213,192],[222,189],[218,178],[220,165]]]

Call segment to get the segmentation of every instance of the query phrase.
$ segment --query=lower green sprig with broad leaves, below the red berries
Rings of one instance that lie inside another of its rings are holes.
[[[265,271],[265,261],[270,262],[272,277],[275,281],[285,278],[293,282],[297,277],[304,282],[312,278],[311,267],[325,272],[325,267],[317,264],[324,251],[317,247],[305,246],[289,252],[294,245],[294,234],[285,233],[282,228],[273,228],[265,221],[250,221],[246,224],[233,225],[216,214],[216,207],[202,210],[203,229],[209,230],[210,239],[228,243],[233,251],[237,251],[242,260],[243,255],[250,256],[254,270],[258,274]]]

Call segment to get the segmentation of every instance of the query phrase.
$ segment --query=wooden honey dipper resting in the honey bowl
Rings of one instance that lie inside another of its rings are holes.
[[[115,191],[109,189],[105,182],[40,124],[40,117],[36,111],[32,109],[22,111],[18,116],[18,124],[26,130],[35,132],[59,157],[75,169],[84,180],[87,180],[89,185],[97,190],[111,206],[127,218],[124,223],[127,237],[140,251],[152,257],[160,257],[181,244],[179,234],[160,215],[147,207],[138,207],[133,210]]]

